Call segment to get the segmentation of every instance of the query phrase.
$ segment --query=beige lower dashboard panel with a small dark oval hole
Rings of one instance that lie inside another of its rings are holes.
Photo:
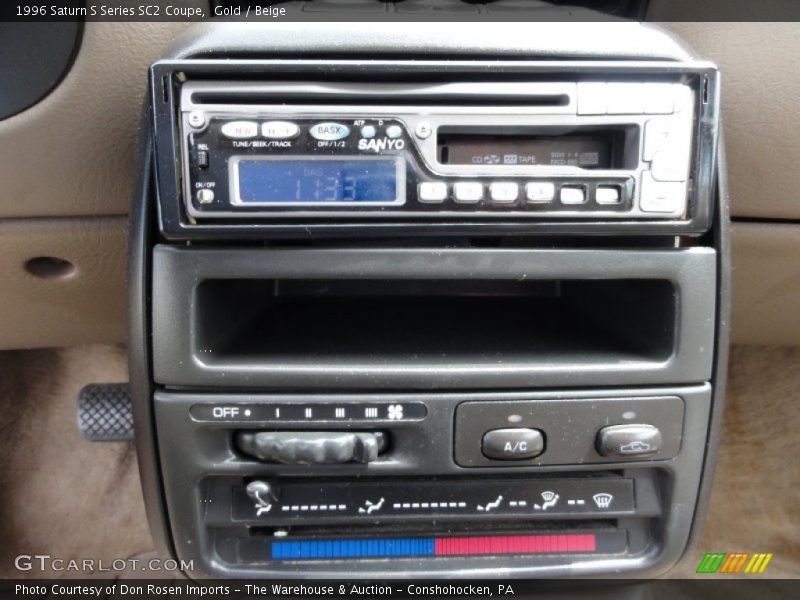
[[[123,341],[127,237],[125,217],[0,221],[0,349]]]

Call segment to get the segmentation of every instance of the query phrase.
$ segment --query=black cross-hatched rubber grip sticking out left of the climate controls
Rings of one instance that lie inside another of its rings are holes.
[[[78,429],[90,442],[133,440],[127,383],[91,383],[78,393]]]

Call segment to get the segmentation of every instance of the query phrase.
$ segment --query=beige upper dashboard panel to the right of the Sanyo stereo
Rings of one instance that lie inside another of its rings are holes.
[[[800,219],[800,23],[662,26],[720,67],[733,216]]]

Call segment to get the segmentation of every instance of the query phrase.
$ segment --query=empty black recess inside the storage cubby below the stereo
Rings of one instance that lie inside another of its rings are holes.
[[[665,360],[664,280],[215,279],[196,290],[207,364],[453,366]]]

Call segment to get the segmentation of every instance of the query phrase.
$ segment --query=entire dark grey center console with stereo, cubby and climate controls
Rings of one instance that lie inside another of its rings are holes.
[[[195,576],[645,575],[689,542],[727,348],[717,71],[636,24],[436,59],[469,31],[275,59],[313,36],[217,25],[151,67],[131,386]]]

